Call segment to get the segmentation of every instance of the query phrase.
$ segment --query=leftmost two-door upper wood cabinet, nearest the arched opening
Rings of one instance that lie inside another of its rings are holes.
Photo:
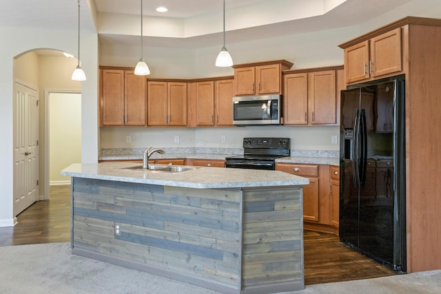
[[[133,70],[100,70],[100,126],[146,125],[145,76]]]

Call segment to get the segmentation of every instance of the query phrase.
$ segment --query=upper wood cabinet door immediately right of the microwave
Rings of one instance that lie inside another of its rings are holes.
[[[287,74],[283,96],[284,124],[307,125],[308,78],[307,74]]]

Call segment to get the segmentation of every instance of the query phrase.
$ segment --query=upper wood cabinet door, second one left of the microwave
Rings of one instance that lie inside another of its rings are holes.
[[[214,125],[214,81],[196,83],[196,125]]]

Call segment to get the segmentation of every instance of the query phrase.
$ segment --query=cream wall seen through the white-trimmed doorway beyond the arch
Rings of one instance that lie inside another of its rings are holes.
[[[61,170],[81,162],[81,94],[49,95],[50,185],[70,184]]]

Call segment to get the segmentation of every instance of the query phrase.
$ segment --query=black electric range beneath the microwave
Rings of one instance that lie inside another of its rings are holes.
[[[243,138],[243,155],[225,158],[225,167],[274,170],[276,158],[289,154],[289,138]]]

